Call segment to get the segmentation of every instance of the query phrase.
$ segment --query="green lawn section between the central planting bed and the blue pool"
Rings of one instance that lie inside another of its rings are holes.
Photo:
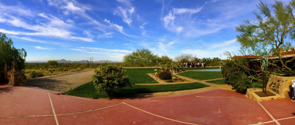
[[[184,73],[178,73],[177,75],[181,75],[196,80],[222,78],[222,73],[220,71],[188,71]]]

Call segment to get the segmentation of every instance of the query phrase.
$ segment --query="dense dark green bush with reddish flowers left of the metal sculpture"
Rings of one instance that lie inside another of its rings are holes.
[[[236,61],[244,62],[242,58]],[[251,80],[247,74],[249,74],[247,70],[236,65],[233,60],[226,60],[222,68],[222,76],[225,78],[225,83],[232,85],[234,89],[240,92],[245,92],[247,88],[251,87]]]

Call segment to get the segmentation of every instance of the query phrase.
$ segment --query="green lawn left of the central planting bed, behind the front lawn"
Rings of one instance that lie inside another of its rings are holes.
[[[130,83],[158,83],[146,73],[155,73],[154,69],[160,70],[160,68],[124,68],[126,75],[130,80]]]

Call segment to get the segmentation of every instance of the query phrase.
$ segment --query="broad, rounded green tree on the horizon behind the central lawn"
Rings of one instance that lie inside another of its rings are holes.
[[[123,57],[123,62],[130,67],[147,67],[157,65],[158,55],[152,54],[148,49],[137,49]]]

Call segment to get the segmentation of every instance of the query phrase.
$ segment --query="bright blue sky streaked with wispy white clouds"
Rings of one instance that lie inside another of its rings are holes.
[[[27,61],[122,61],[142,48],[171,58],[183,53],[212,58],[238,52],[235,27],[253,21],[258,2],[0,0],[0,32],[27,51]]]

